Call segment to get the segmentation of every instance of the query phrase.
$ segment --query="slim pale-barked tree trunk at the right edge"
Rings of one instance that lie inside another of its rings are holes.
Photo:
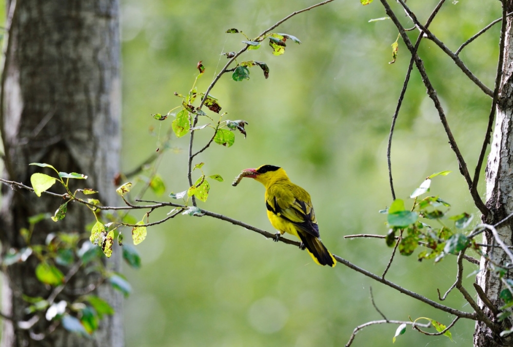
[[[513,2],[504,0],[504,11],[509,13],[513,10]],[[500,86],[500,94],[497,105],[497,119],[495,123],[494,136],[492,139],[491,150],[488,156],[486,167],[486,206],[491,211],[491,220],[485,220],[488,224],[496,224],[513,212],[513,18],[507,17],[503,76]],[[497,232],[507,246],[513,244],[513,220],[509,220],[504,225],[497,228]],[[487,256],[496,263],[511,264],[511,259],[506,253],[497,247],[497,242],[490,231],[483,234],[485,244],[496,244],[494,248],[487,248]],[[486,296],[496,306],[504,304],[499,298],[499,294],[505,285],[502,283],[499,275],[490,270],[490,262],[484,257],[481,258],[481,272],[477,276],[477,283],[484,290]],[[504,278],[513,278],[511,271],[504,275]],[[490,317],[496,321],[494,314],[479,301],[480,307]],[[478,347],[495,347],[513,345],[513,334],[500,337],[500,331],[511,329],[513,322],[511,319],[505,319],[498,332],[491,331],[482,322],[476,323],[474,334],[474,345]]]

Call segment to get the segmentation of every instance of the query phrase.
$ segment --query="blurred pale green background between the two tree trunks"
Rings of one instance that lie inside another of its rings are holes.
[[[408,6],[425,22],[436,3],[412,0]],[[121,1],[123,170],[132,170],[157,148],[162,153],[158,165],[148,166],[136,179],[136,191],[145,186],[145,176],[153,170],[162,176],[166,192],[155,196],[148,191],[145,198],[167,201],[170,192],[188,188],[188,137],[174,137],[164,145],[172,118],[157,121],[150,114],[166,114],[181,104],[173,93],[189,91],[199,60],[206,72],[198,89],[207,88],[226,62],[221,54],[243,47],[242,35],[225,31],[237,28],[255,37],[289,13],[313,4],[307,0]],[[405,26],[413,27],[400,10],[397,13]],[[297,36],[302,45],[288,41],[285,54],[273,56],[266,42],[239,59],[267,63],[269,78],[264,79],[254,67],[250,80],[235,82],[227,74],[211,91],[228,112],[225,118],[244,119],[249,125],[247,138],[238,133],[232,147],[213,144],[197,157],[196,162],[205,162],[207,175],[220,174],[225,179],[211,181],[208,200],[199,202],[200,207],[273,233],[260,183],[245,179],[236,188],[230,183],[242,169],[281,166],[293,182],[310,192],[328,249],[371,272],[383,272],[392,251],[384,240],[344,236],[387,232],[385,216],[378,213],[391,203],[386,144],[409,57],[400,42],[397,62],[388,64],[390,45],[398,32],[390,20],[369,23],[384,16],[379,1],[368,6],[358,0],[334,1],[275,29]],[[455,51],[498,17],[497,1],[450,0],[430,28]],[[494,83],[499,29],[492,28],[460,55],[489,87]],[[415,39],[417,32],[410,35]],[[419,54],[473,171],[490,98],[434,44],[424,40]],[[202,124],[206,120],[201,119]],[[197,132],[195,149],[202,148],[211,134],[208,128]],[[396,194],[410,204],[409,194],[426,176],[452,170],[433,180],[431,193],[450,202],[452,214],[471,213],[475,224],[479,213],[447,142],[414,71],[392,144]],[[194,174],[195,179],[198,174]],[[167,212],[154,212],[152,220]],[[143,212],[134,214],[139,220],[142,216]],[[445,223],[453,227],[452,222]],[[125,233],[128,236],[129,230]],[[142,256],[141,269],[124,269],[133,287],[125,301],[128,347],[341,346],[357,325],[381,319],[372,306],[370,287],[388,319],[429,317],[444,324],[453,319],[341,264],[334,269],[319,267],[306,252],[209,217],[177,216],[150,228],[136,248]],[[437,288],[443,293],[455,280],[456,259],[419,262],[418,253],[397,256],[387,278],[437,300]],[[465,281],[470,287],[476,269],[466,264]],[[456,291],[444,304],[471,310]],[[468,320],[458,322],[450,330],[453,340],[471,345],[473,325]],[[371,326],[352,345],[391,345],[396,328]],[[449,346],[453,342],[408,328],[394,345]]]

